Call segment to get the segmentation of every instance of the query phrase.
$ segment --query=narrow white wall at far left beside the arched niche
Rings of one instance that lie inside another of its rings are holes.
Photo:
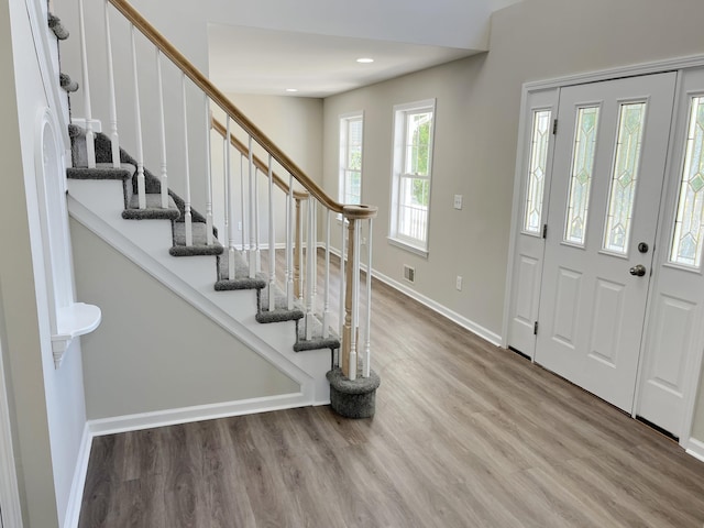
[[[79,343],[68,349],[59,370],[51,345],[35,182],[36,114],[47,106],[51,88],[43,86],[32,59],[25,2],[11,0],[0,9],[6,72],[0,100],[8,132],[0,144],[7,170],[0,207],[0,240],[7,249],[0,258],[3,360],[25,526],[63,526],[86,415]]]

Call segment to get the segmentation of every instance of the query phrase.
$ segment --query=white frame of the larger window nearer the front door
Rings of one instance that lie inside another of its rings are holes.
[[[406,130],[407,120],[410,116],[417,113],[432,113],[432,120],[430,124],[430,133],[428,138],[428,207],[426,209],[425,221],[425,239],[408,237],[403,234],[399,229],[399,217],[402,207],[402,180],[404,178],[418,178],[418,175],[403,174],[405,168],[406,156]],[[397,245],[404,250],[416,253],[420,256],[427,257],[429,254],[429,233],[430,233],[430,204],[432,194],[432,164],[433,164],[433,148],[435,148],[435,131],[436,131],[436,99],[425,99],[422,101],[408,102],[404,105],[394,106],[394,152],[393,152],[393,166],[392,166],[392,195],[391,195],[391,218],[389,218],[389,233],[388,242]]]

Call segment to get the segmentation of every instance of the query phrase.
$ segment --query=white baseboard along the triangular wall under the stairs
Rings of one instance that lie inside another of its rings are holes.
[[[140,413],[136,415],[116,416],[89,420],[88,427],[92,437],[113,435],[117,432],[138,431],[154,427],[188,424],[191,421],[212,420],[231,416],[253,415],[272,410],[290,409],[309,406],[310,398],[304,393],[282,394],[262,398],[224,402],[220,404],[197,405],[178,409]]]

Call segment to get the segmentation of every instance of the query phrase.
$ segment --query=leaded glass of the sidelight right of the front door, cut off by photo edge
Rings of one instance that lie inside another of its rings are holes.
[[[700,267],[704,224],[704,96],[690,102],[686,148],[670,262]]]

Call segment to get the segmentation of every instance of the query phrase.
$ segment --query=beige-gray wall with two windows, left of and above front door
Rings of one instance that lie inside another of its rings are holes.
[[[494,14],[490,52],[324,100],[323,178],[337,193],[338,117],[364,110],[363,201],[380,206],[374,268],[501,333],[521,85],[703,54],[698,0],[525,0]],[[393,106],[437,98],[430,256],[387,243]],[[464,196],[461,211],[452,197]],[[462,292],[454,289],[464,277]],[[695,431],[704,438],[704,398]]]

